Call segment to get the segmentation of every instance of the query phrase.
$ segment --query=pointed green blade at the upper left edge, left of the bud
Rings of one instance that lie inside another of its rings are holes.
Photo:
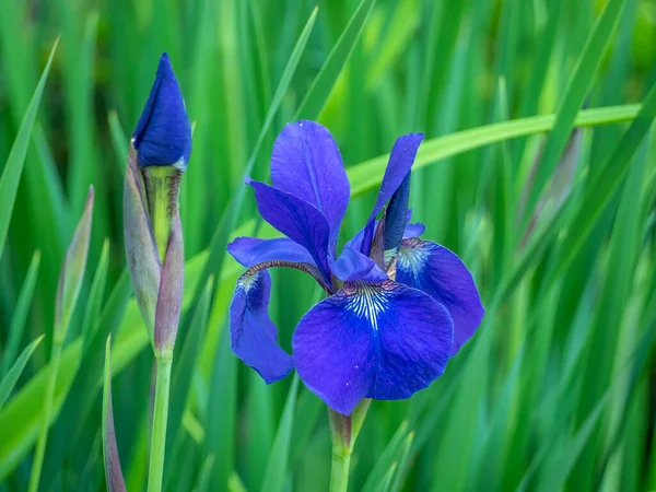
[[[34,95],[30,102],[30,106],[23,116],[21,128],[16,134],[16,139],[11,148],[2,176],[0,176],[0,255],[4,249],[4,241],[7,239],[7,231],[9,230],[9,223],[11,222],[11,214],[16,199],[16,191],[19,190],[19,183],[21,181],[21,174],[23,173],[23,164],[25,163],[25,154],[27,153],[27,145],[30,144],[30,136],[32,133],[32,127],[36,119],[36,113],[40,104],[40,98],[48,80],[48,73],[50,72],[50,66],[52,65],[52,58],[57,50],[58,40],[55,42],[50,56],[42,77],[34,90]]]

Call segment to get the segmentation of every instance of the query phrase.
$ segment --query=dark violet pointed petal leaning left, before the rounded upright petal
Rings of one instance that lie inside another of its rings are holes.
[[[263,183],[249,180],[248,184],[255,189],[260,215],[290,239],[307,249],[314,263],[330,284],[330,229],[321,212],[308,202]]]

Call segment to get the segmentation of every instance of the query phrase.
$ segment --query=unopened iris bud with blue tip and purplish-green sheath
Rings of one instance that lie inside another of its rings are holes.
[[[191,124],[166,54],[131,143],[124,196],[126,254],[153,348],[168,356],[183,296],[178,190],[191,154]]]

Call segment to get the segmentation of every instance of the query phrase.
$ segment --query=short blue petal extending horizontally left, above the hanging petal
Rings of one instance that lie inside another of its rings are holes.
[[[237,237],[227,245],[227,253],[246,268],[274,260],[314,265],[314,259],[307,249],[288,237],[274,239]]]

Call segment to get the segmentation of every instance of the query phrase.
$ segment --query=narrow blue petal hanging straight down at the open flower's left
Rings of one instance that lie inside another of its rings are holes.
[[[292,356],[277,341],[278,330],[268,313],[270,291],[267,271],[247,272],[237,281],[230,306],[232,350],[267,384],[283,378],[294,366]]]

